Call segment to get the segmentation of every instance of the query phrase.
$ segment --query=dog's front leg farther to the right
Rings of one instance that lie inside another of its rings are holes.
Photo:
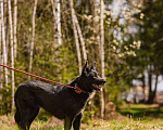
[[[84,113],[80,113],[79,115],[76,116],[76,118],[73,122],[74,130],[79,130],[83,115],[84,115]]]

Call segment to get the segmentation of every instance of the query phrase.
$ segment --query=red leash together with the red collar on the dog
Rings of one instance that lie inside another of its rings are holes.
[[[50,79],[47,79],[47,78],[43,78],[43,77],[40,77],[40,76],[36,76],[36,75],[34,75],[34,74],[30,74],[30,73],[26,73],[26,72],[23,72],[23,70],[18,70],[18,69],[16,69],[16,68],[9,67],[9,66],[7,66],[7,65],[0,64],[0,66],[5,67],[5,68],[9,68],[9,69],[12,69],[12,70],[14,70],[14,72],[18,72],[18,73],[22,73],[22,74],[32,76],[32,77],[35,77],[35,78],[38,78],[38,79],[41,79],[41,80],[45,80],[45,81],[48,81],[48,82],[52,82],[52,83],[55,83],[55,84],[64,86],[64,87],[66,87],[66,88],[75,89],[75,92],[76,92],[77,94],[80,94],[82,92],[83,92],[83,93],[87,93],[87,92],[85,92],[84,90],[82,90],[82,89],[77,86],[77,83],[75,83],[75,87],[72,87],[72,86],[67,86],[67,84],[64,84],[64,83],[61,83],[61,82],[58,82],[58,81],[53,81],[53,80],[50,80]]]

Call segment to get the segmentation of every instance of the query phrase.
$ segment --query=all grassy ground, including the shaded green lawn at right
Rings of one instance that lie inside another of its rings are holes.
[[[18,130],[13,116],[0,116],[0,130]],[[63,130],[63,121],[40,116],[32,130]],[[159,105],[126,105],[118,109],[117,118],[91,119],[82,123],[82,130],[163,130],[163,108]]]

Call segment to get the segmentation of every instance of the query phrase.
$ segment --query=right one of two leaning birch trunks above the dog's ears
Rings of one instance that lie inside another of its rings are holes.
[[[75,16],[75,24],[76,24],[76,27],[77,27],[78,36],[79,36],[80,43],[82,43],[82,49],[83,49],[83,54],[84,54],[84,61],[86,62],[87,61],[87,53],[86,53],[85,40],[84,40],[83,34],[82,34],[80,26],[78,24],[77,16],[76,15],[74,15],[74,16]]]

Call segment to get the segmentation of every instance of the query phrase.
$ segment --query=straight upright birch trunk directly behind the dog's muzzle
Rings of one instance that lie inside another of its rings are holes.
[[[104,29],[103,29],[103,0],[96,0],[93,2],[95,11],[93,11],[93,27],[95,27],[95,36],[97,38],[97,44],[100,53],[100,63],[101,63],[101,77],[104,78]],[[99,16],[100,15],[100,16]],[[104,94],[103,91],[100,92],[100,103],[101,103],[101,118],[104,117]]]

